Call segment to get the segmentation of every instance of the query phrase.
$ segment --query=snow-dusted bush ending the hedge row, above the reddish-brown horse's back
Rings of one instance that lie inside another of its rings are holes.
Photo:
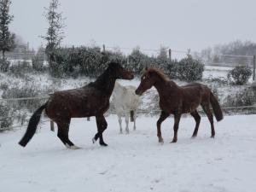
[[[195,60],[191,55],[178,62],[177,78],[185,81],[196,81],[202,79],[204,65],[199,60]]]

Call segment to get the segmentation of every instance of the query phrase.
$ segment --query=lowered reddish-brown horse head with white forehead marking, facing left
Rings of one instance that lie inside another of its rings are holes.
[[[137,90],[135,90],[135,93],[139,96],[142,96],[143,92],[149,90],[154,85],[154,81],[155,79],[153,72],[148,69],[148,67],[146,67],[141,77],[141,83],[137,87]]]

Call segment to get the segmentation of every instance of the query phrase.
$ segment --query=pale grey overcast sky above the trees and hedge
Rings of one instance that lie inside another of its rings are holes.
[[[48,0],[12,0],[11,30],[37,48]],[[200,50],[236,39],[256,41],[255,0],[60,0],[63,44]]]

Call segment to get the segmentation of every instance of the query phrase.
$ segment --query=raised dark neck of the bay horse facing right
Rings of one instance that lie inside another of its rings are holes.
[[[115,80],[116,78],[113,77],[113,74],[107,69],[93,84],[98,90],[101,90],[104,95],[110,97],[113,92]]]

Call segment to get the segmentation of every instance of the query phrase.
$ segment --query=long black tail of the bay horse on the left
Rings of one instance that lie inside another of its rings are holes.
[[[26,147],[26,144],[31,140],[31,138],[35,134],[35,132],[37,130],[38,123],[39,123],[39,120],[41,118],[41,114],[42,114],[44,108],[46,108],[46,105],[47,105],[47,102],[43,106],[38,108],[38,110],[35,113],[32,114],[31,119],[29,119],[29,123],[28,123],[27,129],[26,129],[26,133],[21,138],[21,140],[19,142],[19,144],[22,147]]]

